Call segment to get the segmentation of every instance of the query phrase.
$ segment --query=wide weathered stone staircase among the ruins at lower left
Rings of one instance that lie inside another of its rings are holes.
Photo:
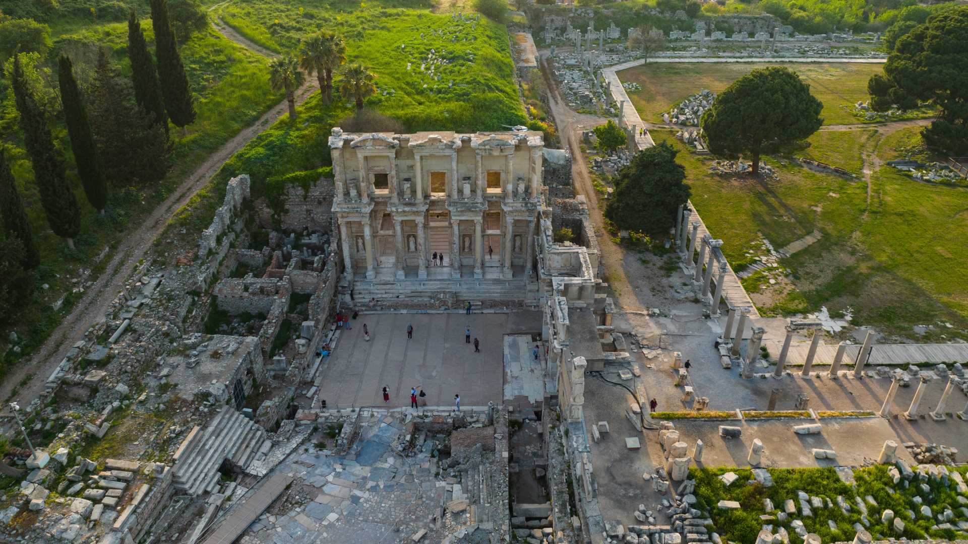
[[[266,439],[265,430],[241,412],[222,408],[204,431],[193,431],[179,448],[175,488],[193,496],[218,491],[222,463],[244,470]]]

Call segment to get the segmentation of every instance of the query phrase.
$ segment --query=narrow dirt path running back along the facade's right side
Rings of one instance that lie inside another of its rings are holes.
[[[558,92],[558,82],[551,74],[554,74],[548,65],[546,52],[541,54],[541,75],[548,85],[549,103],[555,124],[558,126],[558,134],[562,138],[562,145],[567,145],[571,151],[571,175],[575,184],[575,191],[579,195],[584,195],[589,202],[589,215],[595,224],[598,236],[598,248],[601,252],[601,262],[605,270],[603,281],[612,288],[616,303],[620,309],[630,312],[643,312],[645,308],[635,296],[632,283],[626,276],[622,266],[624,250],[612,242],[612,238],[605,232],[604,217],[598,207],[598,194],[591,186],[591,176],[589,166],[585,162],[582,154],[581,132],[592,127],[596,127],[606,122],[606,119],[595,115],[577,113],[568,107],[567,103],[561,100]]]

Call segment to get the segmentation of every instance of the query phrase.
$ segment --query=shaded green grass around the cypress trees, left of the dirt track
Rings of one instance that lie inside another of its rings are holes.
[[[150,20],[142,21],[149,40]],[[70,33],[54,37],[54,52],[68,52],[75,59],[76,71],[82,74],[91,67],[96,58],[97,45],[106,45],[111,58],[118,63],[122,74],[130,72],[124,47],[127,41],[127,27],[121,23],[97,24],[76,29],[79,25],[55,25],[55,28],[72,28]],[[74,170],[73,157],[70,155],[70,141],[63,125],[52,126],[58,144],[68,155],[68,180],[75,188],[75,194],[82,210],[81,233],[76,238],[77,251],[67,250],[63,240],[55,236],[47,227],[39,196],[33,183],[33,170],[22,147],[22,134],[15,129],[16,113],[9,87],[0,85],[0,104],[3,104],[4,126],[12,128],[3,135],[7,152],[12,159],[15,177],[19,182],[21,196],[27,207],[34,227],[34,233],[41,251],[42,265],[38,270],[37,289],[16,317],[9,330],[15,330],[23,339],[21,354],[15,356],[8,352],[0,361],[0,378],[18,358],[30,354],[42,345],[47,335],[60,323],[82,296],[72,292],[76,287],[70,282],[80,269],[91,269],[90,280],[97,278],[110,255],[96,261],[104,248],[116,248],[125,233],[140,225],[140,219],[168,196],[183,180],[212,152],[238,134],[243,128],[252,125],[269,107],[278,104],[282,96],[273,93],[268,86],[267,60],[239,45],[223,38],[214,30],[197,33],[181,48],[193,93],[196,95],[197,120],[183,135],[180,130],[171,131],[173,154],[171,168],[166,178],[154,185],[142,187],[109,188],[106,217],[100,217],[87,203],[79,188]],[[83,80],[83,76],[81,77]],[[56,81],[56,74],[53,78]],[[221,202],[221,198],[219,200]],[[218,204],[216,204],[217,206]],[[65,296],[63,307],[52,311],[50,304]],[[7,342],[6,331],[0,335],[0,352]]]

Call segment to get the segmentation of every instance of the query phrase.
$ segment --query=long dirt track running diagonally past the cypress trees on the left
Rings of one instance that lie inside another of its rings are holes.
[[[242,38],[221,21],[215,23],[215,28],[236,44],[250,48],[265,56],[275,56],[272,51]],[[316,77],[308,77],[307,79],[306,84],[297,91],[297,104],[305,102],[318,89]],[[165,229],[166,221],[171,217],[171,214],[185,205],[192,196],[195,196],[200,189],[205,187],[229,157],[270,127],[287,111],[288,104],[284,100],[266,111],[254,125],[229,139],[187,176],[178,188],[164,202],[159,204],[150,216],[143,220],[136,231],[131,232],[118,245],[114,256],[107,263],[105,272],[93,286],[84,292],[84,296],[71,314],[64,317],[60,326],[50,334],[44,345],[29,360],[21,361],[21,364],[13,369],[4,382],[0,384],[0,399],[7,399],[3,404],[4,409],[11,400],[19,403],[21,407],[29,406],[34,399],[44,392],[46,379],[57,368],[61,360],[67,356],[67,351],[77,341],[83,339],[84,333],[91,324],[105,316],[111,301],[124,288],[138,261],[141,257],[144,257],[155,238]],[[19,385],[21,382],[23,384]]]

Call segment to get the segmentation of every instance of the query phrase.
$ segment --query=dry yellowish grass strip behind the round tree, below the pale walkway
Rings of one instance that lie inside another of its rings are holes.
[[[753,69],[777,65],[794,70],[810,84],[810,92],[824,104],[825,125],[862,123],[841,106],[869,100],[867,79],[883,70],[883,65],[862,63],[647,63],[622,71],[620,77],[642,85],[641,91],[628,96],[644,121],[657,123],[662,113],[701,89],[718,93]],[[913,112],[908,117],[915,116],[919,115]]]

